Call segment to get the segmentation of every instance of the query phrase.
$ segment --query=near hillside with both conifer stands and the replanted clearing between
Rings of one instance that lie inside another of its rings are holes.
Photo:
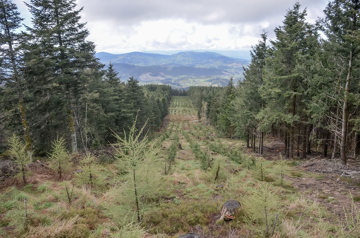
[[[360,0],[294,3],[243,80],[188,90],[101,64],[75,0],[26,5],[0,0],[0,237],[360,236]]]

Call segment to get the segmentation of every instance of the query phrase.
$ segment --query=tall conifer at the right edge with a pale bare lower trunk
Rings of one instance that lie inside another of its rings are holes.
[[[327,41],[324,42],[325,51],[329,51],[329,67],[332,69],[332,83],[328,96],[335,95],[334,91],[338,88],[341,92],[338,95],[339,111],[341,118],[340,139],[340,158],[346,164],[347,141],[351,133],[349,126],[353,119],[359,116],[359,63],[360,63],[360,1],[359,0],[334,0],[330,2],[324,10],[325,18],[322,23]],[[331,77],[331,76],[330,76]],[[355,81],[355,82],[354,82]],[[331,81],[330,81],[331,82]],[[357,96],[356,96],[357,95]],[[331,106],[331,105],[327,105]],[[355,136],[356,151],[356,136]],[[334,147],[336,150],[336,147]],[[356,154],[356,152],[355,152]]]

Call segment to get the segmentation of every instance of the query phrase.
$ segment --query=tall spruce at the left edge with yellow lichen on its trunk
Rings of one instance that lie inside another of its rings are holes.
[[[17,105],[22,122],[22,128],[26,141],[26,148],[31,155],[31,138],[29,123],[27,120],[26,106],[24,104],[24,79],[21,74],[23,66],[22,41],[23,34],[19,33],[22,18],[17,6],[9,0],[0,0],[0,54],[1,54],[1,76],[0,85],[2,107]],[[11,95],[17,95],[16,102],[9,100]],[[10,108],[9,110],[12,110]]]

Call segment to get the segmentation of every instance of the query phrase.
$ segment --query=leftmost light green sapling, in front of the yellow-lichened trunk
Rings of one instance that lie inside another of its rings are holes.
[[[31,162],[31,152],[27,150],[26,144],[15,134],[9,138],[8,153],[19,167],[18,175],[22,177],[24,184],[27,184],[26,166]]]

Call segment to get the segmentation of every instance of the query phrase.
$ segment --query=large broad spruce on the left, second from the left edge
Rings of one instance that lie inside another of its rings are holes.
[[[89,31],[80,22],[82,8],[75,10],[75,0],[31,0],[27,6],[33,16],[33,26],[28,27],[33,38],[27,72],[32,83],[42,87],[41,100],[54,101],[56,111],[46,111],[44,122],[48,124],[49,116],[55,113],[53,120],[67,124],[71,150],[75,152],[76,125],[80,129],[80,119],[75,116],[81,110],[87,78],[100,67],[94,57],[95,46],[86,40]]]

